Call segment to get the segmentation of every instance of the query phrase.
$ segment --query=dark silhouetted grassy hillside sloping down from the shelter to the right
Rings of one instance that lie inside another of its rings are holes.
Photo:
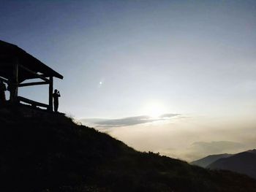
[[[140,153],[64,115],[0,108],[0,191],[256,191],[242,174]]]

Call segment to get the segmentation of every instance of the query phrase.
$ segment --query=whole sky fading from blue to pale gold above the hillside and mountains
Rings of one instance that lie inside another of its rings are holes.
[[[0,39],[64,76],[59,110],[192,161],[256,145],[256,1],[0,0]],[[20,88],[48,102],[48,87]]]

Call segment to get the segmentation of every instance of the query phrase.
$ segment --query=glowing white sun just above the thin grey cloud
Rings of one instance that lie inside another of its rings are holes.
[[[143,107],[143,113],[151,118],[158,118],[166,113],[166,107],[160,101],[148,101]]]

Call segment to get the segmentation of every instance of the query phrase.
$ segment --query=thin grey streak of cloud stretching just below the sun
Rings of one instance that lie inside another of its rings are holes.
[[[169,120],[179,114],[163,114],[159,118],[151,118],[148,115],[140,115],[127,118],[119,119],[100,119],[100,118],[91,118],[91,119],[81,119],[82,123],[93,123],[97,127],[120,127],[120,126],[134,126],[142,123],[151,123],[158,120]]]

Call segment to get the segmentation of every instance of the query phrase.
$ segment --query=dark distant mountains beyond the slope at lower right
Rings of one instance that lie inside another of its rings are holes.
[[[247,174],[256,179],[256,150],[248,150],[227,158],[219,158],[217,161],[209,164],[207,168],[230,170]]]

